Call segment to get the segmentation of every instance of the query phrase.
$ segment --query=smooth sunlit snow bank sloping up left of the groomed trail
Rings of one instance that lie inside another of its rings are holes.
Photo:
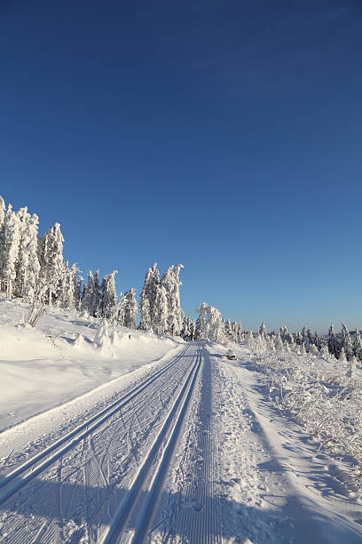
[[[50,308],[31,327],[24,323],[27,313],[28,305],[0,299],[0,431],[150,364],[183,342],[117,327],[114,340],[98,346],[98,319]]]

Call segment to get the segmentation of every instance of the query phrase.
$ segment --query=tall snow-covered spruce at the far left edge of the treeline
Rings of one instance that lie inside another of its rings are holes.
[[[13,284],[16,278],[16,262],[20,248],[20,219],[12,212],[12,204],[8,205],[0,234],[1,248],[1,290],[6,289],[6,296],[12,298]]]

